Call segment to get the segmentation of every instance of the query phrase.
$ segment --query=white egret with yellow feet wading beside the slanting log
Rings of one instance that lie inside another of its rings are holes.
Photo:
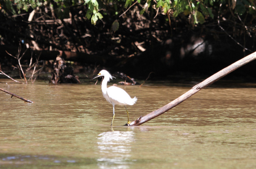
[[[137,98],[134,97],[133,99],[129,96],[128,93],[126,93],[123,89],[116,87],[116,86],[110,86],[107,88],[107,83],[109,80],[113,79],[113,77],[109,74],[107,70],[101,70],[100,73],[96,77],[104,76],[104,79],[101,84],[101,90],[103,97],[113,105],[113,119],[111,122],[111,126],[115,117],[115,105],[134,105],[137,101]],[[96,77],[93,77],[96,78]],[[128,125],[130,124],[129,121],[129,115],[128,115],[128,110],[125,107],[126,112],[127,112],[127,117],[128,117]]]

